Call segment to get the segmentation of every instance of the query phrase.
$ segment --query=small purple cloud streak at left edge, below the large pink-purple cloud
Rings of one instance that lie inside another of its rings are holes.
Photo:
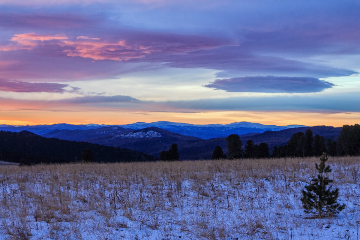
[[[22,82],[11,81],[5,78],[0,78],[0,91],[6,92],[66,92],[67,84],[49,83],[49,82]],[[76,90],[77,88],[73,88]]]

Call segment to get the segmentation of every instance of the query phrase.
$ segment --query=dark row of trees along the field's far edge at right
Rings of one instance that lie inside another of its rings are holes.
[[[330,156],[360,155],[360,125],[344,125],[337,140],[326,139],[324,136],[313,135],[311,129],[305,133],[292,135],[287,145],[274,146],[269,154],[269,146],[261,142],[259,145],[248,140],[244,148],[240,137],[231,134],[226,137],[229,159],[238,158],[269,158],[271,157],[320,157],[324,152]],[[225,156],[225,157],[224,157]],[[220,146],[216,146],[212,159],[226,158]]]

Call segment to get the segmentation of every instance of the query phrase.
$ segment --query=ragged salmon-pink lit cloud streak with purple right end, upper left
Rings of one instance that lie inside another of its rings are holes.
[[[136,36],[135,36],[136,35]],[[78,36],[70,40],[63,34],[40,35],[36,33],[16,34],[10,40],[14,43],[0,46],[0,51],[33,50],[39,46],[57,45],[63,47],[67,56],[79,56],[94,60],[126,61],[143,58],[152,53],[184,54],[189,51],[211,49],[221,45],[210,38],[187,36],[161,36],[153,34],[127,35],[115,41],[103,41],[96,37]]]

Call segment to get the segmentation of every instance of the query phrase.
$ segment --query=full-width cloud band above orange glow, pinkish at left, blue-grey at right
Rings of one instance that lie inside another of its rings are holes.
[[[182,101],[142,101],[131,96],[81,96],[60,100],[20,100],[0,97],[5,107],[46,110],[74,109],[135,112],[208,112],[208,111],[289,111],[314,113],[360,112],[360,92],[311,94],[306,96],[243,96],[222,99]],[[78,107],[78,108],[77,108]],[[86,107],[84,109],[83,107]]]

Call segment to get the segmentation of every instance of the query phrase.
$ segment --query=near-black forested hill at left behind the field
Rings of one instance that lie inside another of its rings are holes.
[[[85,149],[90,149],[94,162],[138,162],[153,161],[156,158],[138,151],[46,138],[35,133],[0,131],[0,160],[33,163],[63,163],[80,161]]]

